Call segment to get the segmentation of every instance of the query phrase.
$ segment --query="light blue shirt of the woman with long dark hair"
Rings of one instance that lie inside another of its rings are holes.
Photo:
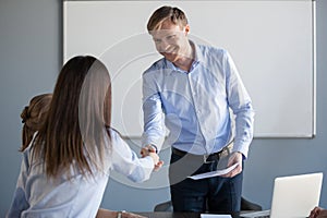
[[[23,153],[23,161],[12,205],[7,217],[58,218],[96,217],[102,195],[113,169],[134,182],[149,179],[154,169],[152,157],[137,158],[114,131],[110,131],[112,148],[108,148],[105,171],[94,171],[94,178],[74,173],[71,180],[61,175],[52,181],[46,178],[44,164],[32,161],[31,146]]]

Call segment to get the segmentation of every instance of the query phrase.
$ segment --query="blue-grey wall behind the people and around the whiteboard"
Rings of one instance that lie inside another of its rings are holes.
[[[327,175],[327,1],[317,0],[317,135],[310,138],[254,140],[245,164],[243,195],[270,205],[277,175],[323,171]],[[22,108],[34,95],[51,92],[62,60],[61,1],[0,0],[0,217],[5,214],[21,165]],[[164,154],[168,161],[168,155]],[[168,187],[145,190],[114,180],[102,206],[152,210],[169,198]],[[320,205],[327,207],[327,182]]]

